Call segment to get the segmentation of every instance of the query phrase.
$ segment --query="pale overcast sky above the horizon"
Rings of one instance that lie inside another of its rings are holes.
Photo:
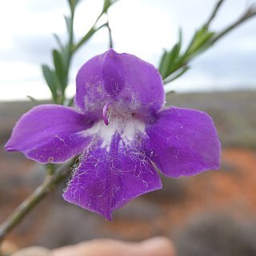
[[[93,24],[102,0],[82,0],[75,20],[76,38]],[[114,49],[136,54],[158,65],[164,48],[170,49],[181,27],[186,44],[209,17],[217,0],[119,0],[110,9]],[[226,0],[212,24],[221,30],[256,0]],[[50,97],[40,64],[50,64],[56,46],[51,34],[65,36],[65,0],[8,0],[0,9],[0,100]],[[95,34],[74,57],[69,94],[80,66],[108,47],[106,30]],[[256,18],[228,34],[192,63],[182,78],[170,84],[177,91],[256,89]]]

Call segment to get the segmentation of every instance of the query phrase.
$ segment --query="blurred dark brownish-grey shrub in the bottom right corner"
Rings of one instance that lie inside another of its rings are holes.
[[[254,256],[256,222],[203,214],[174,235],[178,256]]]

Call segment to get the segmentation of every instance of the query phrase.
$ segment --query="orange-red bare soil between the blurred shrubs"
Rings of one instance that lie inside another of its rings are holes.
[[[15,176],[17,178],[17,175],[22,175],[20,170],[26,173],[32,166],[31,162],[22,157],[1,158],[0,160],[1,180],[14,180]],[[8,166],[14,166],[14,168],[10,170]],[[256,214],[255,185],[256,151],[226,149],[222,153],[222,170],[187,178],[185,198],[176,202],[170,202],[167,199],[157,202],[157,207],[162,211],[152,220],[116,218],[113,222],[102,221],[99,234],[101,237],[103,235],[128,240],[149,238],[157,234],[170,235],[172,230],[184,225],[191,216],[202,212],[227,212],[237,218],[253,218]],[[6,218],[31,190],[30,187],[15,190],[15,186],[10,186],[9,199],[5,200],[3,196],[0,198],[0,220]],[[143,198],[143,200],[150,202],[150,198]],[[50,211],[49,204],[52,204],[50,200],[47,203],[47,206],[46,203],[39,205],[36,213],[26,218],[22,230],[10,235],[11,242],[18,246],[29,246],[37,241],[36,238],[40,237],[42,226],[46,222],[44,218],[49,215],[47,215]]]

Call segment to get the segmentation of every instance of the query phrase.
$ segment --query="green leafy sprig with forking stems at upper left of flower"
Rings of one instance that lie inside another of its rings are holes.
[[[94,25],[88,30],[85,35],[74,42],[74,14],[78,2],[81,0],[68,0],[70,7],[70,15],[64,16],[66,22],[66,30],[68,34],[68,41],[62,42],[58,34],[53,34],[54,38],[58,44],[58,49],[52,50],[53,67],[47,65],[42,65],[42,74],[46,80],[46,84],[50,89],[52,94],[52,101],[57,104],[67,104],[70,105],[73,100],[66,103],[66,87],[69,82],[70,73],[70,62],[75,54],[75,52],[102,27],[107,26],[107,22],[98,26],[98,20],[103,14],[109,10],[110,6],[117,2],[118,0],[105,0],[102,7],[102,12],[98,15],[98,18],[94,22]]]

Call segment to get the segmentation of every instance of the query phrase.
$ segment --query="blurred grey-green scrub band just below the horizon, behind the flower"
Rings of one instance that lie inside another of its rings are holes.
[[[222,146],[256,148],[256,91],[168,94],[167,105],[206,111],[214,119]],[[0,102],[0,140],[6,141],[21,114],[34,102]]]

